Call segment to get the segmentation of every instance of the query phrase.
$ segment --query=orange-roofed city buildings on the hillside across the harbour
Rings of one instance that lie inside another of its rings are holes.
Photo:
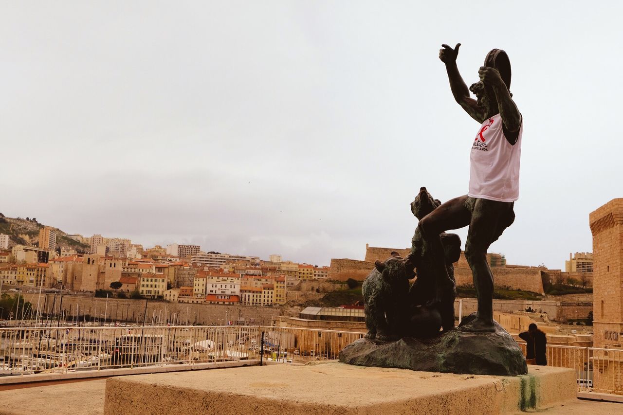
[[[80,236],[73,235],[72,239],[80,241]],[[75,250],[64,248],[61,256],[48,259],[47,264],[40,259],[47,259],[49,250],[14,247],[10,254],[0,257],[0,262],[6,262],[0,264],[0,279],[4,284],[87,292],[110,290],[112,282],[120,282],[117,292],[137,292],[171,302],[273,306],[284,304],[288,289],[300,281],[326,279],[329,270],[310,264],[262,262],[259,257],[215,252],[199,252],[191,257],[196,263],[188,264],[166,254],[166,249],[160,246],[143,250],[142,246],[128,245],[129,240],[115,241],[100,235],[89,240],[94,241],[94,247],[97,245],[94,254],[78,255]],[[126,247],[126,253],[132,255],[117,255]],[[180,253],[179,246],[176,249],[169,246],[172,254]],[[9,264],[9,257],[14,255],[20,260]],[[220,267],[216,266],[219,264]]]

